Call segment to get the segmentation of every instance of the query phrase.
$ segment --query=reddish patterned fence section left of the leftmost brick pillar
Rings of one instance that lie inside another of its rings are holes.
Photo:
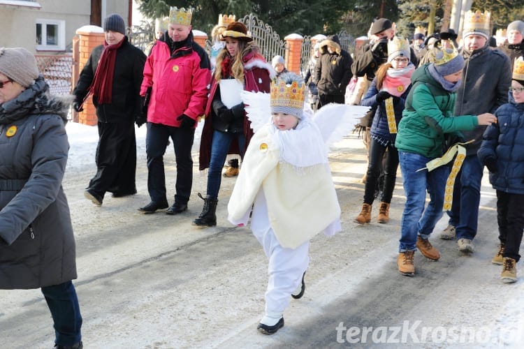
[[[35,58],[38,70],[49,84],[51,94],[71,94],[73,57],[69,54],[38,54]]]

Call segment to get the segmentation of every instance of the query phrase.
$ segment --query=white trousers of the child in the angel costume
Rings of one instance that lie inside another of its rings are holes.
[[[280,246],[270,226],[263,191],[256,197],[251,227],[269,260],[265,315],[280,318],[289,306],[291,293],[302,283],[302,276],[310,264],[310,242],[307,241],[294,249]]]

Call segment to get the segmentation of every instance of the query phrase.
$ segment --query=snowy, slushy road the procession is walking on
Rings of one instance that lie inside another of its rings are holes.
[[[490,263],[497,248],[495,193],[485,176],[479,233],[472,255],[436,236],[442,258],[415,255],[416,275],[396,269],[402,178],[388,224],[353,223],[361,207],[365,151],[353,135],[337,144],[330,165],[342,207],[342,232],[317,235],[306,292],[292,300],[274,336],[256,331],[263,315],[267,261],[247,228],[226,221],[235,179],[224,178],[214,228],[191,221],[202,209],[206,175],[195,163],[194,195],[179,216],[145,215],[145,154],[139,151],[138,194],[105,198],[82,191],[93,163],[64,179],[75,230],[85,348],[500,348],[524,343],[521,280],[503,284]],[[166,154],[173,195],[173,151]],[[374,207],[373,218],[378,210]],[[443,218],[437,232],[446,227]],[[518,264],[521,267],[521,263]],[[39,290],[0,290],[0,347],[52,348],[52,321]]]

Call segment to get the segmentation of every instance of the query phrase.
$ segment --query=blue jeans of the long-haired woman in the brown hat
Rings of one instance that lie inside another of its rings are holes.
[[[231,142],[236,139],[238,142],[238,149],[242,152],[246,138],[244,133],[226,133],[214,130],[213,140],[211,144],[211,158],[208,170],[208,195],[212,198],[218,198],[218,192],[220,190],[220,184],[222,180],[222,168],[224,168],[224,162],[226,162],[226,156],[228,155],[229,147]],[[243,158],[244,154],[240,154]]]

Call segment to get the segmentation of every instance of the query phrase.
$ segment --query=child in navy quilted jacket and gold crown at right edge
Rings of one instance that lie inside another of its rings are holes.
[[[479,160],[490,171],[490,183],[497,191],[497,222],[500,248],[494,264],[502,264],[500,279],[517,281],[516,263],[524,230],[524,59],[516,59],[509,103],[500,106],[497,124],[486,128]]]

